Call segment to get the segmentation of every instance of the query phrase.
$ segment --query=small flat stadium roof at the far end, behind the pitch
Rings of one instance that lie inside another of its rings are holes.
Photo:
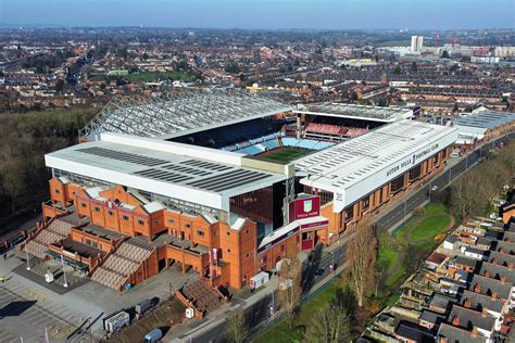
[[[397,122],[413,116],[413,111],[410,109],[366,106],[332,102],[309,105],[300,104],[293,113],[382,123]]]

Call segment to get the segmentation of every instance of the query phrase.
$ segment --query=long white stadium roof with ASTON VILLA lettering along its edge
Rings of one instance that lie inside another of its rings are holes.
[[[455,128],[402,120],[300,158],[296,168],[306,175],[301,183],[332,192],[341,212],[456,138]]]

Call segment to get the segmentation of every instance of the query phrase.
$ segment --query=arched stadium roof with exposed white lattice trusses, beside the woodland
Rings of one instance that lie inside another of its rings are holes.
[[[188,89],[135,100],[115,98],[81,130],[98,140],[101,132],[169,139],[266,117],[292,106],[236,90]]]

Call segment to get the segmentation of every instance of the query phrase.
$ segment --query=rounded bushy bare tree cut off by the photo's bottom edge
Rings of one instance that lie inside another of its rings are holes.
[[[350,342],[349,316],[341,305],[328,305],[319,309],[307,327],[309,342]]]

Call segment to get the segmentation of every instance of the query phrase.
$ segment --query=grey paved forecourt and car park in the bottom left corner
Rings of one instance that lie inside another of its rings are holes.
[[[90,342],[90,335],[98,341],[105,334],[105,315],[153,296],[167,298],[197,276],[168,268],[123,293],[92,281],[62,292],[61,285],[27,271],[23,253],[11,251],[8,256],[0,262],[0,276],[7,279],[0,283],[0,342],[45,342],[46,329],[49,342],[64,342],[72,333],[70,342]]]

